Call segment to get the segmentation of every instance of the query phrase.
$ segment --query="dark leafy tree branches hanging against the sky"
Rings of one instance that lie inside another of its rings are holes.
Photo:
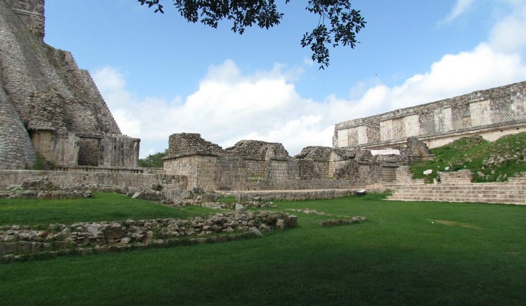
[[[274,0],[172,0],[179,13],[188,22],[201,22],[217,28],[219,20],[232,20],[232,31],[243,34],[246,27],[257,24],[269,29],[283,18]],[[290,0],[285,0],[288,3]],[[310,47],[312,60],[320,69],[329,66],[329,46],[340,44],[355,48],[356,35],[365,27],[360,11],[351,8],[352,0],[309,0],[305,8],[319,16],[318,25],[305,33],[302,47]],[[164,13],[161,0],[138,0],[141,5],[154,7],[155,13]]]

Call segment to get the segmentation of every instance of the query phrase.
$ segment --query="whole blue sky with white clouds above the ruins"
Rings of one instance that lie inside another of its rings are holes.
[[[135,0],[46,1],[46,43],[88,69],[141,156],[168,136],[201,133],[224,147],[331,145],[334,124],[526,80],[524,0],[354,0],[366,18],[356,49],[331,49],[318,70],[301,36],[317,25],[305,2],[278,2],[270,30],[239,35]]]

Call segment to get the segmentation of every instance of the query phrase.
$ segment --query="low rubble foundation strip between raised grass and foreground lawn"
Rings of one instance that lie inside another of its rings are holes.
[[[0,254],[4,260],[16,256],[55,252],[57,255],[98,252],[100,248],[127,247],[163,243],[179,237],[202,237],[197,242],[228,241],[229,236],[206,237],[211,234],[236,235],[285,229],[297,226],[296,216],[282,212],[260,210],[257,212],[225,212],[206,218],[126,220],[114,222],[79,222],[71,225],[49,224],[37,226],[3,226],[0,229]],[[201,240],[199,240],[201,239]],[[231,240],[231,239],[230,239]],[[65,251],[65,250],[71,251]],[[107,249],[109,251],[109,249]]]

